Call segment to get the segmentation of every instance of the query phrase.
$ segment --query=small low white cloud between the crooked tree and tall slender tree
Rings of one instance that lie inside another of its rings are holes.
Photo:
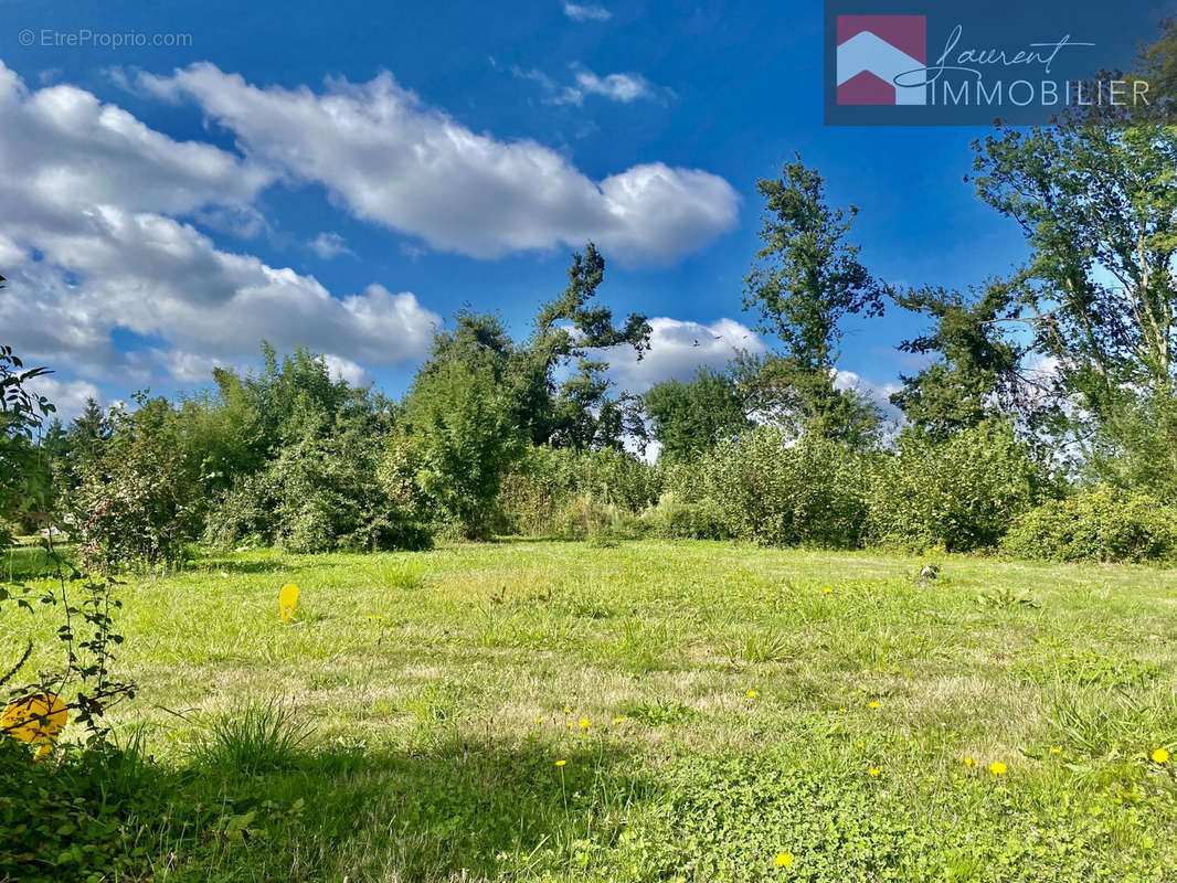
[[[614,347],[604,357],[618,385],[641,393],[663,380],[689,380],[700,367],[722,369],[740,351],[765,352],[759,336],[734,319],[705,325],[667,317],[650,319],[650,351],[637,359],[632,347]]]

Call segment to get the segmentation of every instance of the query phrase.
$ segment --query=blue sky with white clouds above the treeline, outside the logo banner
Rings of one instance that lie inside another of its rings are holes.
[[[892,285],[1028,253],[963,180],[988,128],[824,125],[811,0],[98,7],[0,0],[0,341],[66,417],[262,338],[399,396],[465,305],[525,337],[587,240],[601,303],[654,330],[619,386],[723,365],[772,345],[742,287],[794,153]],[[850,323],[845,381],[885,396],[922,327]]]

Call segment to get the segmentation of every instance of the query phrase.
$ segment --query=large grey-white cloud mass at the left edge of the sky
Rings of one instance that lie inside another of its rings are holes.
[[[140,384],[207,379],[261,338],[379,365],[427,350],[439,319],[412,293],[337,298],[171,217],[248,214],[274,180],[262,164],[175,141],[73,86],[28,92],[2,65],[0,119],[0,314],[31,363]],[[148,343],[120,352],[117,332]]]

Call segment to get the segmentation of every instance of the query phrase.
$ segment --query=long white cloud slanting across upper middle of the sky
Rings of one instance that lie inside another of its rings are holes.
[[[583,73],[603,94],[633,100],[643,88]],[[593,181],[536,141],[472,132],[388,73],[315,93],[199,64],[140,84],[195,100],[259,165],[321,184],[355,217],[439,251],[494,258],[592,239],[627,263],[670,261],[737,221],[738,195],[718,175],[649,162]]]

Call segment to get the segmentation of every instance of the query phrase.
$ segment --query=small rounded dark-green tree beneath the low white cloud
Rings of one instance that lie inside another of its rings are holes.
[[[667,459],[697,457],[751,425],[736,381],[709,367],[686,383],[656,384],[645,394],[645,406],[661,445],[659,456]]]

